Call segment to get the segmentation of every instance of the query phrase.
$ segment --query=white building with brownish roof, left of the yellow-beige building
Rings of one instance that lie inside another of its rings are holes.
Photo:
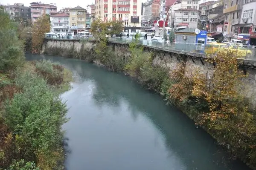
[[[67,13],[50,15],[51,31],[60,33],[69,32],[69,20],[70,17]]]

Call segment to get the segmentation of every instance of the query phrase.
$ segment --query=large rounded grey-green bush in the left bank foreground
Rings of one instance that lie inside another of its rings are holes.
[[[19,74],[15,83],[23,92],[6,101],[3,118],[15,135],[17,148],[20,148],[17,152],[25,161],[49,164],[53,158],[41,156],[61,150],[61,126],[68,120],[66,105],[52,94],[47,82],[38,75]],[[58,161],[54,160],[55,167]]]

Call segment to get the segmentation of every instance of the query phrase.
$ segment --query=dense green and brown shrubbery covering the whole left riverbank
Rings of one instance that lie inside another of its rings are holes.
[[[58,63],[26,62],[18,23],[1,10],[0,21],[0,170],[62,170],[68,118],[59,94],[72,75]]]

